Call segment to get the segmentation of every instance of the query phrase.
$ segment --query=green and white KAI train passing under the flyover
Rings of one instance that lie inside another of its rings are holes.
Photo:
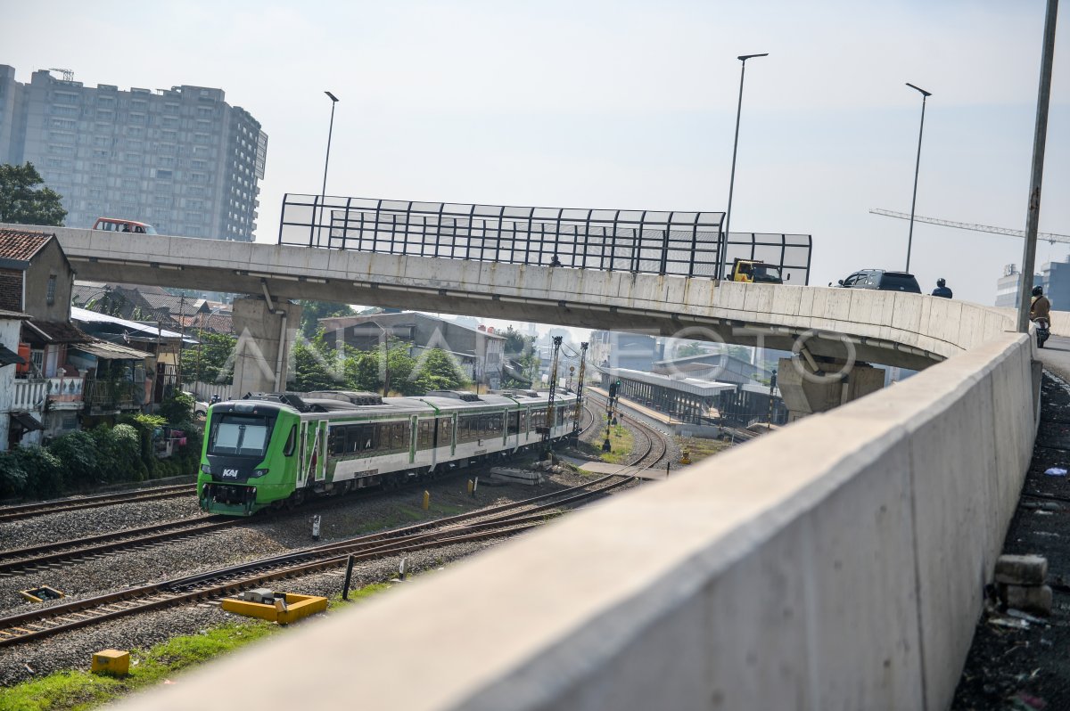
[[[535,448],[572,432],[576,395],[534,390],[414,398],[367,392],[247,395],[209,407],[197,496],[250,515],[309,495],[398,486]]]

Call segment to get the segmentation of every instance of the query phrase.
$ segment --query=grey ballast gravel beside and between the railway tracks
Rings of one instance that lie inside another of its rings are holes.
[[[73,561],[45,570],[0,576],[0,616],[40,608],[42,604],[28,603],[19,590],[48,585],[62,590],[71,599],[82,599],[134,587],[148,583],[214,570],[301,547],[351,538],[384,527],[395,528],[408,523],[426,520],[422,510],[424,491],[430,494],[435,517],[504,504],[565,486],[588,482],[588,477],[574,473],[553,474],[540,486],[521,484],[494,485],[480,476],[477,496],[468,494],[468,479],[475,470],[452,478],[410,486],[386,495],[350,495],[339,506],[317,510],[321,516],[320,540],[311,537],[311,510],[275,516],[254,516],[234,528],[178,542],[162,543],[153,547],[127,553],[114,553],[97,558]],[[165,513],[155,515],[156,511]],[[10,542],[12,529],[18,527],[20,536],[30,537],[34,526],[61,531],[55,536],[37,534],[41,543],[64,540],[77,536],[108,532],[120,528],[201,515],[196,501],[164,499],[156,503],[119,505],[88,509],[66,514],[50,514],[37,520],[26,520],[0,525],[0,548],[20,547],[24,541]],[[26,526],[26,524],[31,524]],[[522,534],[521,534],[522,535]],[[489,545],[510,540],[503,537],[492,541],[456,543],[407,555],[410,571],[421,573],[485,550]],[[399,559],[388,558],[360,563],[354,567],[353,589],[372,583],[389,581],[397,575]],[[345,570],[317,573],[301,578],[277,583],[276,589],[287,592],[332,596],[341,591]],[[51,604],[60,604],[57,601]],[[192,603],[181,607],[153,613],[140,613],[114,621],[91,625],[81,630],[46,637],[0,652],[0,685],[11,685],[61,669],[88,669],[93,652],[101,649],[148,648],[171,637],[196,634],[205,627],[224,621],[245,618],[223,612],[216,604]]]

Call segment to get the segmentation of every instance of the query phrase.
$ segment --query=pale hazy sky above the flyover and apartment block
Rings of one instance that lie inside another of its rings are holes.
[[[813,235],[811,284],[901,269],[917,214],[1024,229],[1043,0],[65,2],[0,0],[28,81],[217,87],[269,135],[257,236],[285,192],[724,210],[747,63],[734,230]],[[1070,233],[1070,7],[1055,50],[1040,230]],[[1038,263],[1066,259],[1038,248]],[[1022,241],[916,223],[912,271],[992,304]],[[1070,305],[1056,307],[1070,308]]]

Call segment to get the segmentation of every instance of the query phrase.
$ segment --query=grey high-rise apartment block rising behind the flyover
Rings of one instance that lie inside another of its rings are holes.
[[[67,227],[97,217],[162,234],[250,242],[268,135],[220,89],[83,87],[70,72],[29,83],[0,64],[0,164],[32,163],[63,196]]]

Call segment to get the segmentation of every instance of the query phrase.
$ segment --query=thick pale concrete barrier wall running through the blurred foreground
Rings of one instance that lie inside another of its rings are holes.
[[[126,708],[947,708],[1031,356],[1000,334]]]

